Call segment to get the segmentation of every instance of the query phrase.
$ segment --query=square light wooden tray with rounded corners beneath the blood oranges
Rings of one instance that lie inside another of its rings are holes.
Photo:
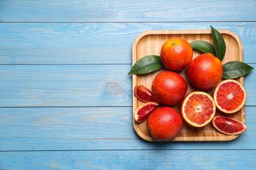
[[[226,54],[223,59],[223,63],[228,61],[243,61],[243,47],[240,38],[233,32],[228,30],[218,30],[221,35],[223,35],[224,41],[226,42]],[[213,44],[211,37],[211,30],[155,30],[155,31],[145,31],[141,33],[133,43],[133,65],[140,58],[147,55],[158,55],[160,56],[161,46],[165,41],[173,37],[181,37],[186,39],[188,42],[203,40],[208,41]],[[198,50],[194,50],[194,58],[198,55],[202,54]],[[146,75],[133,75],[133,90],[137,84],[143,84],[147,88],[151,89],[152,81],[154,80],[154,76],[163,71],[164,69],[160,69],[158,71],[154,71],[153,73],[148,73]],[[186,69],[180,71],[180,75],[183,76],[188,82],[186,75]],[[241,84],[244,85],[244,77],[240,77],[238,80]],[[188,82],[188,92],[197,90]],[[214,90],[214,88],[213,88]],[[210,95],[213,94],[213,90],[207,91]],[[133,92],[133,112],[142,105],[143,102],[137,100]],[[173,106],[179,112],[180,104]],[[245,123],[245,109],[244,107],[234,113],[234,114],[224,114],[223,112],[217,109],[215,115],[223,115],[228,116],[230,118],[235,118],[236,120],[240,120]],[[146,141],[156,141],[153,139],[146,127],[146,121],[137,124],[133,118],[133,127],[137,134],[145,139]],[[238,135],[224,135],[223,133],[219,133],[212,124],[208,124],[205,127],[192,127],[183,122],[183,127],[181,132],[177,137],[170,141],[229,141],[235,139]]]

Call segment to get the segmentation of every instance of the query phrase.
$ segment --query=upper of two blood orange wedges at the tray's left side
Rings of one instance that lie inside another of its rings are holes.
[[[144,102],[154,102],[158,101],[151,90],[143,86],[142,84],[137,84],[137,86],[134,89],[135,97],[139,99],[140,101]]]

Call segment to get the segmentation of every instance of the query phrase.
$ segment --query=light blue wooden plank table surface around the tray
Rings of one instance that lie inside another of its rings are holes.
[[[233,141],[140,139],[132,46],[147,30],[228,29],[256,68],[256,1],[0,1],[0,169],[256,169],[256,71]]]

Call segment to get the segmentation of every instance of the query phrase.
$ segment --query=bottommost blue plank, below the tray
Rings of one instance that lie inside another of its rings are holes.
[[[255,169],[255,150],[0,152],[0,169]]]

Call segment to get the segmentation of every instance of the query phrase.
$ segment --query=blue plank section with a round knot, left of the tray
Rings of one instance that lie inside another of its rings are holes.
[[[131,106],[131,65],[0,65],[0,107]]]

